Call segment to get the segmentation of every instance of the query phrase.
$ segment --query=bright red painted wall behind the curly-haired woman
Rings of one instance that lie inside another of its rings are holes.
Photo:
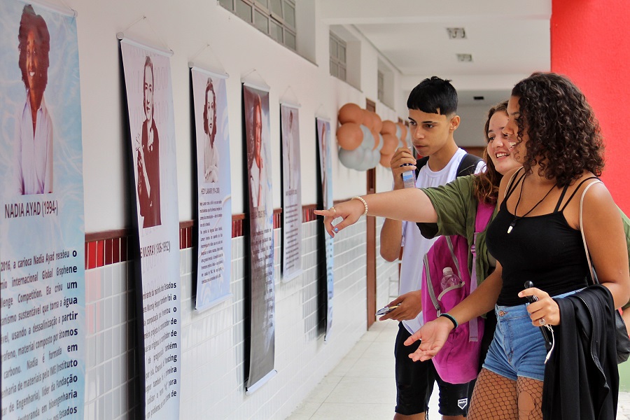
[[[551,69],[571,78],[601,125],[602,179],[630,214],[630,1],[552,0]]]

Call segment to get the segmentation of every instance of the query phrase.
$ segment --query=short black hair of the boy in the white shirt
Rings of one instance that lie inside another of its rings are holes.
[[[409,94],[407,108],[449,115],[457,112],[457,91],[451,80],[437,76],[422,80]]]

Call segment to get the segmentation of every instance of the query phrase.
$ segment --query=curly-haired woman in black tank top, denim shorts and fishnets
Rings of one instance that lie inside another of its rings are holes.
[[[498,214],[487,231],[489,251],[498,261],[496,270],[449,311],[455,322],[438,318],[426,323],[406,343],[421,339],[413,358],[426,360],[441,348],[455,323],[496,305],[495,339],[477,378],[469,420],[517,420],[519,415],[542,419],[547,352],[541,349],[544,342],[537,330],[541,325],[561,323],[552,296],[587,286],[580,198],[594,182],[597,184],[584,194],[582,216],[591,260],[615,307],[630,297],[622,221],[610,193],[594,179],[603,168],[603,146],[598,123],[582,92],[563,76],[533,73],[512,90],[507,113],[504,132],[508,141],[517,144],[517,159],[523,167],[503,178]],[[535,287],[524,289],[525,281],[533,281]],[[526,297],[538,301],[525,305]],[[511,318],[502,326],[504,315],[507,319],[519,313],[524,316]],[[531,339],[522,338],[533,334],[531,331],[535,331]]]

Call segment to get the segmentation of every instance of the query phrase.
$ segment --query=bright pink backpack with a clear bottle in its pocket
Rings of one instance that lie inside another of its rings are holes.
[[[470,249],[468,240],[459,235],[442,236],[435,241],[424,255],[422,272],[422,313],[424,322],[452,309],[477,288],[475,243],[477,233],[483,232],[490,221],[495,206],[479,203],[475,218],[475,235]],[[472,275],[468,271],[468,253],[472,253]],[[462,280],[460,286],[444,291],[440,286],[444,267],[451,267]],[[477,317],[460,324],[451,331],[447,342],[433,356],[433,365],[443,381],[450,384],[465,384],[479,374],[479,351],[484,333],[484,319]]]

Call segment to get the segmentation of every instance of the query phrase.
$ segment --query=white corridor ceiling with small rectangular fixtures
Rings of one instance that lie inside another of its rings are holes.
[[[549,71],[551,0],[318,0],[318,6],[328,25],[354,27],[400,71],[405,99],[435,75],[453,80],[461,105],[489,105],[533,71]],[[450,39],[451,27],[463,28],[465,38]],[[459,62],[458,54],[472,55],[472,62]]]

